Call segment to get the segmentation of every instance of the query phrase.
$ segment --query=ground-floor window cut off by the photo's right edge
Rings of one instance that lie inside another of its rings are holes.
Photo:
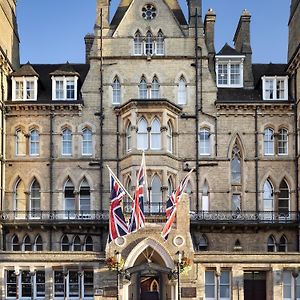
[[[300,300],[300,276],[294,270],[282,273],[283,300]]]

